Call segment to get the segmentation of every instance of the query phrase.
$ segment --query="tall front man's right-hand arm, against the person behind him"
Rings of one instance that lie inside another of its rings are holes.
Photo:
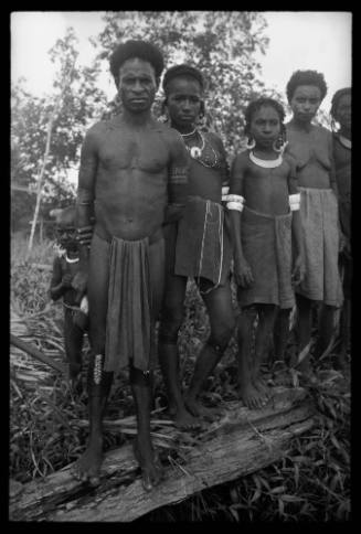
[[[189,157],[180,135],[170,129],[171,156],[168,174],[168,206],[164,224],[177,222],[183,215],[188,195]]]

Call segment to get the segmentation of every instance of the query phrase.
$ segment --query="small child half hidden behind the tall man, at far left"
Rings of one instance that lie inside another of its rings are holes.
[[[54,248],[57,250],[57,255],[53,263],[50,296],[53,300],[63,297],[65,354],[68,363],[68,377],[72,386],[75,386],[82,367],[83,338],[87,329],[87,298],[84,297],[79,305],[76,291],[72,287],[79,259],[75,206],[53,210],[51,215],[56,217],[57,243]]]

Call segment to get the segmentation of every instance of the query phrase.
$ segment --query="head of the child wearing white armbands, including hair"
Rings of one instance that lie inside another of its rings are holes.
[[[286,128],[284,107],[274,98],[261,97],[252,100],[245,110],[245,134],[264,148],[284,145]]]

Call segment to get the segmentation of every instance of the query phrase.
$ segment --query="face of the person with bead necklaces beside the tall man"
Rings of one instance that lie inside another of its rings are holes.
[[[167,88],[167,107],[172,124],[177,127],[192,126],[201,110],[201,86],[194,78],[177,77]]]

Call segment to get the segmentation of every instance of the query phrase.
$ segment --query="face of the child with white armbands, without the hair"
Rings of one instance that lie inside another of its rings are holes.
[[[276,109],[272,106],[262,106],[253,115],[249,130],[256,146],[272,149],[280,134],[280,120]]]

